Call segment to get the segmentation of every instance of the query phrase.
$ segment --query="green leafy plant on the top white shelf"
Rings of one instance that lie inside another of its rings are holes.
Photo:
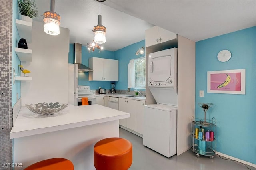
[[[32,0],[18,0],[18,7],[21,15],[28,16],[30,18],[36,18],[38,11],[35,1]]]

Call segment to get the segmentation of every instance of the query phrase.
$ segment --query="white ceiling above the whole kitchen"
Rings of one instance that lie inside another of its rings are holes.
[[[50,0],[36,0],[42,14]],[[107,28],[104,49],[116,51],[145,39],[145,30],[158,25],[199,41],[256,26],[256,1],[247,0],[106,0],[101,2],[102,25]],[[62,27],[70,29],[70,43],[92,42],[98,24],[96,0],[55,0]],[[34,20],[42,22],[43,17]]]

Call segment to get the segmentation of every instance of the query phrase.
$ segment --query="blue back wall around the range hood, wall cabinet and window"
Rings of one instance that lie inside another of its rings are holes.
[[[82,64],[88,66],[90,57],[99,57],[106,59],[119,60],[119,81],[88,81],[88,72],[78,74],[78,85],[88,85],[90,89],[98,89],[99,87],[111,89],[111,83],[116,83],[115,89],[125,90],[128,87],[127,82],[127,66],[130,59],[140,58],[145,55],[136,55],[136,51],[145,46],[145,40],[134,43],[118,51],[100,51],[96,49],[94,52],[88,52],[87,48],[82,46]],[[74,63],[74,44],[70,44],[68,54],[68,63]]]

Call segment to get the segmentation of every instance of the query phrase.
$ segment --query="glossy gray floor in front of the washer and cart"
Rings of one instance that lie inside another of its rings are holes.
[[[191,150],[179,156],[166,158],[142,144],[142,138],[119,128],[121,138],[132,142],[133,161],[129,170],[256,170],[251,166],[244,166],[236,161],[223,160],[217,155],[210,159],[207,156],[196,157]],[[224,158],[224,157],[223,157]]]

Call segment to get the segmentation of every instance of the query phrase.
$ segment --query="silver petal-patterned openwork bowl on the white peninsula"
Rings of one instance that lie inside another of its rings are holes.
[[[59,102],[55,103],[37,103],[37,104],[30,104],[25,105],[30,111],[38,114],[38,115],[53,115],[54,113],[57,113],[66,107],[68,107],[68,104],[59,104]]]

